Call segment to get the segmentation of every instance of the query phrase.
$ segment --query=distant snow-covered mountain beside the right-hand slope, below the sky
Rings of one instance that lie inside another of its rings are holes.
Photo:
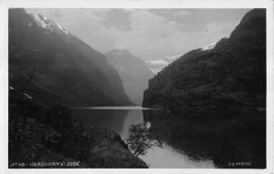
[[[149,69],[153,72],[153,74],[157,74],[160,72],[164,67],[171,64],[174,60],[180,58],[182,55],[175,55],[175,56],[167,56],[163,59],[157,59],[157,60],[150,60],[146,61],[145,64]]]

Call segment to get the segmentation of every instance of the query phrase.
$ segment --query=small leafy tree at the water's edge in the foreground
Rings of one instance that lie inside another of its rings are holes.
[[[153,132],[143,124],[132,125],[130,127],[130,137],[127,139],[129,147],[133,150],[135,156],[146,154],[149,148],[163,148],[161,140],[157,140]]]

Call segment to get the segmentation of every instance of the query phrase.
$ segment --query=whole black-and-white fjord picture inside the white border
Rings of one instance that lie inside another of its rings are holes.
[[[269,169],[268,10],[8,7],[6,168]]]

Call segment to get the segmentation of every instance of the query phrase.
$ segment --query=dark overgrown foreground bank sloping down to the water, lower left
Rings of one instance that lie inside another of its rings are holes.
[[[148,168],[123,142],[106,128],[74,123],[70,110],[35,98],[10,93],[10,169],[37,168]]]

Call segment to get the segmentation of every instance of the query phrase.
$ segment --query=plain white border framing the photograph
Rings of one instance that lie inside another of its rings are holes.
[[[0,174],[38,173],[274,173],[273,0],[0,0]],[[266,8],[267,9],[267,169],[8,169],[8,8]]]

